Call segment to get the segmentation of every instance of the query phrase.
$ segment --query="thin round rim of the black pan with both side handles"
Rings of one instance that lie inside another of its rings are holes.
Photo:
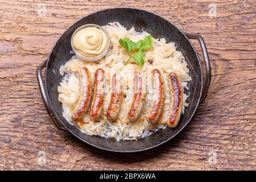
[[[142,9],[137,9],[137,8],[130,8],[130,7],[113,7],[113,8],[108,8],[108,9],[103,9],[103,10],[98,10],[98,11],[94,11],[93,13],[90,13],[86,16],[89,16],[89,15],[92,15],[94,13],[98,13],[100,11],[105,11],[105,10],[109,10],[109,9],[133,9],[133,10],[138,10],[138,11],[146,11],[147,13],[151,13],[151,14],[154,14],[156,16],[159,16],[161,18],[163,18],[162,16],[160,15],[157,15],[155,13],[152,13],[150,11],[147,11],[147,10],[142,10]],[[79,20],[77,20],[76,22],[72,23],[71,26],[69,26],[60,36],[59,38],[56,40],[55,44],[53,45],[52,49],[51,49],[51,52],[49,53],[49,55],[52,54],[52,51],[53,51],[53,48],[55,48],[56,46],[56,43],[59,41],[59,39],[61,38],[61,36],[63,34],[65,34],[66,31],[68,31],[68,29],[70,27],[72,27],[75,23],[79,22],[81,19],[85,18],[86,16],[83,16],[82,18],[80,18]],[[171,23],[169,20],[167,20],[166,18],[163,18],[164,20],[166,20],[168,23]],[[208,52],[207,52],[207,48],[205,46],[205,43],[204,43],[204,40],[203,38],[199,35],[199,34],[184,34],[183,31],[180,30],[180,28],[178,28],[175,24],[171,23],[173,26],[175,26],[177,28],[177,30],[179,30],[181,32],[181,34],[183,34],[185,36],[185,38],[187,38],[188,42],[191,44],[192,48],[193,48],[193,51],[195,52],[196,54],[196,57],[198,60],[199,59],[199,56],[196,52],[196,49],[195,47],[193,46],[193,44],[191,43],[191,41],[188,39],[188,38],[191,38],[191,39],[197,39],[200,43],[200,47],[202,49],[202,52],[203,52],[203,57],[204,57],[204,61],[205,61],[205,68],[206,68],[206,73],[207,73],[207,76],[206,76],[206,80],[205,80],[205,84],[203,86],[201,86],[201,90],[200,90],[200,99],[197,101],[197,104],[196,104],[196,107],[195,107],[195,110],[193,111],[193,113],[191,114],[191,117],[187,120],[187,123],[185,123],[185,125],[179,130],[177,131],[174,135],[172,135],[172,137],[168,138],[167,140],[161,142],[161,143],[158,143],[156,144],[155,146],[152,146],[152,147],[148,147],[148,148],[143,148],[141,150],[134,150],[134,151],[117,151],[117,150],[111,150],[111,149],[108,149],[108,148],[102,148],[102,147],[99,147],[99,146],[96,146],[95,144],[92,144],[92,143],[89,143],[87,142],[86,140],[80,138],[79,136],[77,136],[72,130],[69,130],[67,126],[65,126],[63,124],[63,122],[61,122],[61,120],[59,119],[59,117],[57,117],[56,113],[55,113],[55,110],[53,109],[52,107],[52,104],[51,104],[51,101],[49,100],[49,96],[48,96],[48,90],[46,89],[46,83],[44,84],[43,83],[43,80],[42,80],[42,69],[46,68],[46,74],[45,74],[45,80],[46,80],[46,77],[47,77],[47,68],[48,68],[48,63],[49,63],[49,56],[48,56],[48,59],[45,60],[42,64],[40,64],[38,66],[38,68],[36,69],[36,76],[38,77],[38,83],[39,83],[39,87],[40,87],[40,92],[42,94],[42,97],[43,97],[43,101],[44,101],[44,105],[46,106],[46,110],[49,114],[49,116],[51,117],[51,119],[53,120],[53,122],[55,122],[55,125],[58,129],[60,130],[67,130],[69,131],[69,133],[75,135],[76,138],[79,138],[80,140],[82,140],[83,142],[91,145],[91,146],[94,146],[94,147],[97,147],[97,148],[100,148],[102,150],[107,150],[107,151],[112,151],[112,152],[140,152],[140,151],[145,151],[145,150],[149,150],[151,148],[154,148],[154,147],[157,147],[159,146],[160,144],[163,144],[165,142],[167,142],[168,140],[174,138],[177,134],[180,133],[181,130],[184,129],[185,126],[188,125],[188,123],[191,121],[191,118],[193,117],[193,115],[195,114],[195,111],[197,109],[197,107],[199,106],[199,104],[201,102],[204,101],[205,97],[207,96],[207,93],[208,93],[208,89],[209,89],[209,84],[210,84],[210,76],[211,76],[211,73],[210,73],[210,63],[209,63],[209,56],[208,56]],[[200,72],[201,72],[201,80],[203,81],[203,74],[202,74],[202,68],[201,68],[201,63],[199,61],[199,66],[200,66]],[[45,87],[45,88],[44,88]],[[203,97],[202,97],[202,92],[203,92]]]

